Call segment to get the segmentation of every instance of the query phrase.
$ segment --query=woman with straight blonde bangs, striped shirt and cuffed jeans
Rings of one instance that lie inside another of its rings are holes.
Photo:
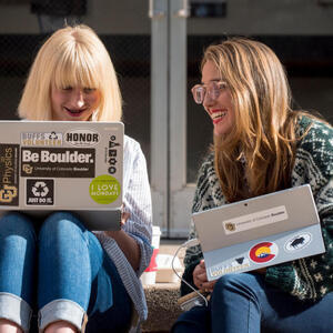
[[[90,28],[65,27],[44,42],[19,114],[28,121],[121,120],[113,64]],[[139,278],[152,254],[150,185],[140,144],[125,135],[123,149],[120,231],[88,231],[70,212],[44,221],[19,213],[1,219],[1,333],[128,332],[147,319]]]

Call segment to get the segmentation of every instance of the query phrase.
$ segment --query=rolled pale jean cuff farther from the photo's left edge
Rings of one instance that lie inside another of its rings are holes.
[[[39,311],[39,332],[43,332],[49,324],[59,321],[71,323],[79,330],[79,332],[84,332],[87,314],[78,303],[71,300],[52,301]]]

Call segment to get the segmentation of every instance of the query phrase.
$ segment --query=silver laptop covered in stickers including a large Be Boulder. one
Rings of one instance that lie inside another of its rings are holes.
[[[71,211],[119,230],[123,135],[121,122],[0,121],[0,214]]]

